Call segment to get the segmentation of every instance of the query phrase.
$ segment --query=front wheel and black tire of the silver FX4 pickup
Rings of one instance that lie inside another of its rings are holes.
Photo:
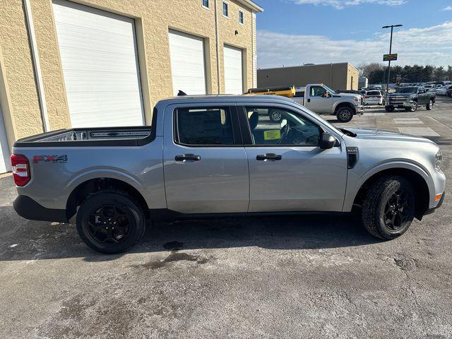
[[[396,239],[410,227],[415,203],[415,190],[407,179],[382,177],[367,192],[362,204],[362,224],[374,237]]]

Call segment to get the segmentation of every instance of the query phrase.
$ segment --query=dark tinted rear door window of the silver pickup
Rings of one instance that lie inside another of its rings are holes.
[[[228,107],[175,110],[176,142],[184,145],[234,145]]]

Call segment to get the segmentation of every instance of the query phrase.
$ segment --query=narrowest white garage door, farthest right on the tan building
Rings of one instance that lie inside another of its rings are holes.
[[[243,94],[242,49],[225,46],[225,94]]]

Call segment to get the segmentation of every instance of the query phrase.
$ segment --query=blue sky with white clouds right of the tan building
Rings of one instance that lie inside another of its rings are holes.
[[[260,69],[383,62],[396,24],[391,65],[452,65],[452,0],[255,1]]]

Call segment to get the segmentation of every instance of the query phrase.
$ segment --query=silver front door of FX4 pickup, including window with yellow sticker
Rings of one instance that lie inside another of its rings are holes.
[[[248,143],[249,212],[341,211],[347,180],[343,143],[321,150],[326,127],[301,109],[252,103],[241,108],[242,126],[249,127],[242,131]],[[265,111],[271,109],[283,115],[280,123],[268,119]]]

